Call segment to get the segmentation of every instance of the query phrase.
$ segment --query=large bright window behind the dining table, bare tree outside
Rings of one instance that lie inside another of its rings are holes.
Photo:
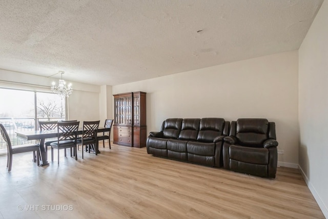
[[[0,123],[6,128],[12,145],[23,144],[16,130],[38,129],[38,121],[65,120],[65,98],[57,94],[0,88]],[[5,141],[0,140],[0,154],[7,152]]]

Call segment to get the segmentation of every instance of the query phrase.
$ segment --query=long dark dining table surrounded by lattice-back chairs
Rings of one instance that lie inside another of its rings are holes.
[[[99,127],[97,132],[109,132],[110,128]],[[56,138],[58,136],[58,131],[55,130],[35,130],[35,131],[15,131],[16,136],[22,138],[23,140],[30,141],[35,140],[40,146],[40,166],[49,165],[48,162],[48,149],[45,146],[45,140],[47,138]],[[77,131],[78,135],[83,134],[83,129],[79,128]],[[100,153],[98,150],[98,144],[96,144],[97,153]]]

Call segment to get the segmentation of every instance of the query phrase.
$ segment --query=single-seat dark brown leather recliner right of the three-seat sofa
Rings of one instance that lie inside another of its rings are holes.
[[[231,122],[224,137],[223,167],[261,177],[276,177],[277,146],[275,123],[265,118],[240,118]]]

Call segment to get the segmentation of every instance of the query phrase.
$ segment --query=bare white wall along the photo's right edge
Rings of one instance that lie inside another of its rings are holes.
[[[328,218],[328,2],[299,49],[299,166]]]

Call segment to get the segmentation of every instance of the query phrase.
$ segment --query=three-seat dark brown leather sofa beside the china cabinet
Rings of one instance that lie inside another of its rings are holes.
[[[150,132],[147,153],[220,167],[223,138],[228,135],[229,124],[223,118],[168,118],[159,132]]]

